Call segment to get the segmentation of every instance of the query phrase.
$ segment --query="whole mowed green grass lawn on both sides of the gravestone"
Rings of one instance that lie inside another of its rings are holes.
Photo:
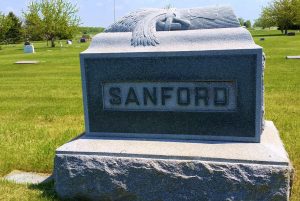
[[[296,169],[293,201],[300,198],[300,34],[253,31],[267,55],[266,118],[275,122]],[[259,41],[265,37],[265,41]],[[0,176],[12,170],[51,173],[55,149],[84,130],[79,52],[88,44],[47,48],[22,45],[0,50]],[[36,65],[16,65],[38,60]],[[298,171],[299,170],[299,171]],[[16,185],[0,180],[0,200],[57,200],[53,183]]]

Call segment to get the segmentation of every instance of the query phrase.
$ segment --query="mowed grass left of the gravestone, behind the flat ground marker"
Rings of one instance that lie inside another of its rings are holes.
[[[51,172],[54,150],[83,132],[79,52],[88,44],[0,51],[0,175],[13,169]],[[34,65],[16,61],[37,60]]]

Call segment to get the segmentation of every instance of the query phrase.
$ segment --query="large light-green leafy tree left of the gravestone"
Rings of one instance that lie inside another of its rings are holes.
[[[77,6],[67,0],[32,1],[24,13],[26,35],[40,35],[55,47],[56,39],[72,38],[77,32],[77,13]]]

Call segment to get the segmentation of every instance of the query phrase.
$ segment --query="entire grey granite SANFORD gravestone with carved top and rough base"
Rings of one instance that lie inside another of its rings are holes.
[[[230,8],[136,11],[80,59],[86,131],[56,151],[61,198],[288,200],[263,51]]]

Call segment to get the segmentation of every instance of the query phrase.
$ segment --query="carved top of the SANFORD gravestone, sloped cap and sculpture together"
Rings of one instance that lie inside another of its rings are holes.
[[[261,49],[227,6],[140,9],[93,38],[84,53]]]

